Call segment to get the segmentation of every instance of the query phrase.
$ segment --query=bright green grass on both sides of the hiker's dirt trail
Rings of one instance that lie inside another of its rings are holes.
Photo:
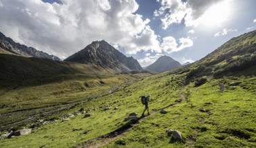
[[[169,75],[168,72],[146,77],[112,94],[54,115],[58,117],[85,108],[93,114],[89,118],[79,115],[66,122],[59,120],[36,128],[30,135],[5,139],[0,147],[71,147],[100,137],[123,126],[129,113],[142,113],[144,106],[139,96],[152,95],[150,112],[174,104],[180,99],[179,91],[185,79],[186,73]],[[222,93],[220,82],[225,83]],[[184,89],[186,101],[167,108],[167,114],[152,114],[134,126],[132,131],[104,147],[256,147],[253,88],[254,76],[208,77],[207,83],[198,87],[190,83]],[[119,110],[104,110],[106,106],[118,106]],[[200,108],[207,112],[201,112]],[[171,140],[165,133],[167,128],[180,131],[185,140]],[[26,143],[28,140],[30,143]]]

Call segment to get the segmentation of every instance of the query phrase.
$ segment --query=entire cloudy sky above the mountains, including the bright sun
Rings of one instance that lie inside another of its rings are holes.
[[[106,40],[148,66],[205,57],[256,29],[255,0],[0,0],[0,32],[66,59]]]

